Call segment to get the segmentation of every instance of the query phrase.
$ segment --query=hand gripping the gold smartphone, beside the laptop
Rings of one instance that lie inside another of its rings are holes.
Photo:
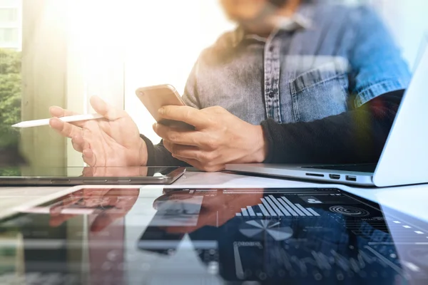
[[[162,118],[193,125],[195,130],[153,125],[173,157],[200,170],[224,170],[227,163],[263,162],[267,142],[263,128],[251,125],[221,107],[197,110],[188,106],[165,106]]]

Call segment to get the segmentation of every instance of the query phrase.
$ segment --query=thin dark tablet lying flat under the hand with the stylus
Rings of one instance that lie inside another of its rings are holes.
[[[169,185],[185,167],[0,167],[0,185]]]

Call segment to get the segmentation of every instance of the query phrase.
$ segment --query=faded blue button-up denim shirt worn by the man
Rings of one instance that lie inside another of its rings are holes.
[[[407,88],[392,36],[367,6],[302,4],[268,38],[225,33],[201,53],[183,100],[220,105],[253,125],[310,122]]]

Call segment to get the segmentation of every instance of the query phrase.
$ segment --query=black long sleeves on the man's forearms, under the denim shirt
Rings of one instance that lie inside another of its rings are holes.
[[[266,163],[370,163],[377,162],[394,123],[404,90],[380,95],[364,105],[321,120],[261,124],[269,142]],[[163,146],[148,147],[148,165],[187,165]]]

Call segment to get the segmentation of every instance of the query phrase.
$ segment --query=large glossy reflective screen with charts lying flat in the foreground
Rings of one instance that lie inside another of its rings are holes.
[[[78,190],[0,222],[0,284],[427,284],[427,238],[330,188]]]

